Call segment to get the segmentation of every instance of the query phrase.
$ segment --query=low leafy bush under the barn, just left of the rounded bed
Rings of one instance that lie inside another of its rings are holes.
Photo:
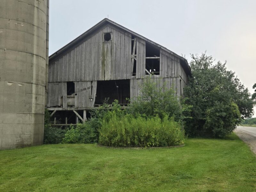
[[[99,138],[100,122],[97,118],[91,118],[76,126],[70,125],[63,143],[97,143]]]

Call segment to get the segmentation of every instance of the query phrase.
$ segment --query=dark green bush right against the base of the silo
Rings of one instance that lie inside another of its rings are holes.
[[[50,113],[47,109],[44,111],[44,143],[55,144],[61,143],[65,136],[66,130],[51,125]]]

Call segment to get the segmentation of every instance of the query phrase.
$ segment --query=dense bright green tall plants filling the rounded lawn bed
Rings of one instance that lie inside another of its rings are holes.
[[[102,122],[99,142],[118,147],[165,147],[184,143],[184,132],[174,118],[164,116],[148,119],[115,111],[108,112]]]

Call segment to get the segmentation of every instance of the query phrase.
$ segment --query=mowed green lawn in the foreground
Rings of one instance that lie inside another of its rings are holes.
[[[236,135],[181,148],[56,144],[0,151],[0,191],[256,191],[256,158]]]

